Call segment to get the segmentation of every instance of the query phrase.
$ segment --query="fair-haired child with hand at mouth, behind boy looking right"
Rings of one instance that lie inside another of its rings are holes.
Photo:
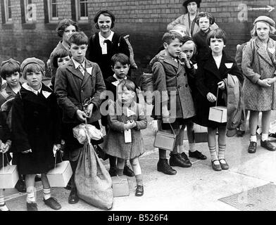
[[[190,68],[194,67],[194,69],[197,68],[196,63],[194,63],[194,60],[192,60],[193,56],[196,54],[196,44],[194,44],[194,41],[192,37],[184,37],[183,38],[183,45],[181,47],[181,55],[184,56],[184,58],[187,58],[187,65],[190,66]],[[180,56],[181,56],[180,55]],[[185,56],[186,55],[186,56]],[[188,64],[189,63],[189,64]],[[196,71],[196,70],[194,70]],[[195,80],[191,76],[188,79],[189,87],[192,90],[192,96],[194,95],[194,92],[197,91],[195,87]],[[187,158],[187,155],[184,153],[184,145],[183,145],[183,139],[184,139],[184,129],[186,125],[182,125],[180,129],[180,139],[178,143],[178,152],[182,156],[184,160],[189,160]],[[192,121],[187,123],[187,136],[189,141],[189,157],[190,158],[196,158],[198,160],[206,160],[206,156],[203,155],[201,152],[196,150],[196,146],[194,143],[194,123]]]

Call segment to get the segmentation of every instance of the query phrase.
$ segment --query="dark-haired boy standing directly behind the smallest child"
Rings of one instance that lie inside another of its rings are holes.
[[[113,100],[116,101],[117,99],[117,86],[120,81],[123,79],[128,79],[133,82],[133,80],[127,76],[128,71],[130,70],[130,58],[128,58],[127,55],[124,53],[117,53],[111,58],[111,68],[114,72],[113,76],[109,76],[105,79],[106,83],[106,91],[111,91],[113,94]],[[136,86],[137,88],[137,86]],[[137,96],[137,95],[136,95]],[[137,102],[137,101],[136,101]],[[106,125],[106,117],[102,117],[101,122],[103,125]],[[109,174],[111,176],[116,176],[116,158],[109,155],[109,163],[110,163],[110,169]],[[134,172],[130,167],[127,166],[127,160],[125,160],[125,167],[123,174],[127,176],[134,176]]]

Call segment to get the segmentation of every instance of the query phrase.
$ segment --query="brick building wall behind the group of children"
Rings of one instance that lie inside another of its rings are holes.
[[[1,0],[0,15],[0,60],[13,57],[24,60],[27,57],[38,57],[46,62],[51,51],[59,41],[55,28],[57,23],[49,23],[47,16],[47,0],[33,0],[37,6],[37,20],[35,23],[25,23],[24,0],[11,0],[12,23],[4,19],[4,0]],[[73,18],[75,1],[58,0],[58,18]],[[253,20],[258,15],[268,15],[275,19],[276,10],[248,11],[247,20],[241,21],[240,4],[253,7],[275,6],[275,0],[229,1],[229,0],[202,0],[201,11],[208,11],[215,16],[215,22],[227,32],[228,42],[226,51],[234,56],[237,44],[250,39],[249,32]],[[182,15],[184,8],[182,0],[88,0],[89,18],[80,23],[82,31],[90,37],[96,28],[93,18],[97,11],[107,8],[115,14],[114,30],[121,34],[130,34],[130,41],[134,49],[134,58],[139,66],[135,73],[149,72],[149,60],[161,46],[161,37],[166,26],[172,20]]]

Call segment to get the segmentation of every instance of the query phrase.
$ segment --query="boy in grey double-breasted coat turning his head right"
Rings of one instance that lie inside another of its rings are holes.
[[[184,160],[177,152],[177,145],[180,139],[180,127],[187,124],[195,115],[194,102],[189,89],[187,75],[192,74],[187,68],[188,64],[178,60],[183,38],[177,32],[168,32],[163,35],[163,45],[165,48],[165,56],[160,57],[158,62],[153,64],[153,82],[154,89],[160,94],[160,102],[158,98],[153,108],[153,117],[155,120],[161,120],[162,131],[175,134],[175,146],[170,153],[170,165],[166,158],[166,150],[159,148],[159,161],[157,170],[164,174],[174,175],[176,170],[170,166],[191,167],[192,164],[188,160]],[[161,113],[159,108],[161,108]],[[173,129],[173,130],[172,130]]]

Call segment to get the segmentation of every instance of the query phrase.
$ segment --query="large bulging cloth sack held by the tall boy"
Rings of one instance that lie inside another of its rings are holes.
[[[75,171],[77,195],[85,202],[104,210],[113,205],[112,180],[96,155],[90,141],[84,144]]]

